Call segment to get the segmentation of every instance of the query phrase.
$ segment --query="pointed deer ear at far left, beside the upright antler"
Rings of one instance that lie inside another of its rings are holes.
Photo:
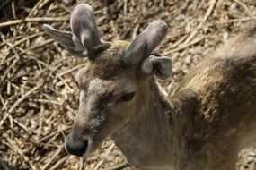
[[[84,47],[71,32],[54,29],[48,24],[43,24],[43,29],[51,38],[64,46],[71,55],[85,57]]]

